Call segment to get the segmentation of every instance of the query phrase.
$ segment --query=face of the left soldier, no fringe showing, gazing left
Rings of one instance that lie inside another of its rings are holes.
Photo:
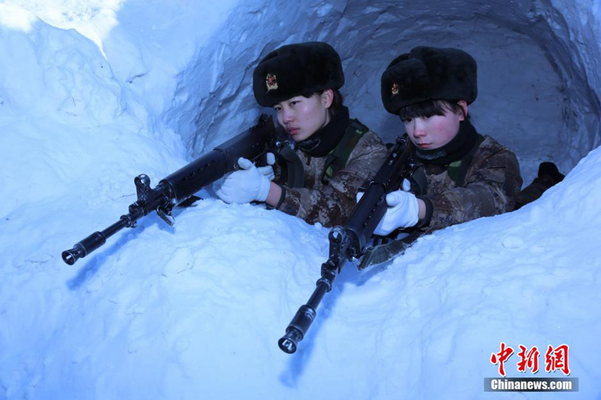
[[[329,106],[332,105],[332,90],[310,98],[295,96],[274,105],[279,124],[294,141],[310,138],[329,122]]]

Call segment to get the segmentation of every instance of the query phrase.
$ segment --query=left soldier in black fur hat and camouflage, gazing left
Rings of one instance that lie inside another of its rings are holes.
[[[259,105],[274,107],[279,124],[296,142],[291,165],[297,170],[287,176],[300,177],[298,187],[283,177],[270,182],[269,167],[240,159],[242,169],[221,183],[219,198],[264,201],[308,223],[344,223],[358,188],[375,175],[387,150],[373,131],[349,118],[338,91],[343,84],[340,57],[324,42],[285,45],[259,61],[252,90]]]

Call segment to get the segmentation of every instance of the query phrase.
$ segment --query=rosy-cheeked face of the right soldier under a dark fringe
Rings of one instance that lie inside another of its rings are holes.
[[[467,104],[461,101],[460,105],[467,114]],[[416,147],[432,150],[445,146],[453,140],[459,132],[459,123],[464,119],[463,113],[456,114],[450,110],[445,110],[444,115],[409,118],[405,119],[403,123],[405,124],[405,131],[409,135],[409,140]]]

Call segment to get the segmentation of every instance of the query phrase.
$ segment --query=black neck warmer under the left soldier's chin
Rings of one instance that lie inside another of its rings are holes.
[[[338,107],[332,112],[329,123],[311,135],[308,139],[298,142],[298,148],[312,157],[325,157],[342,139],[349,124],[349,109]]]

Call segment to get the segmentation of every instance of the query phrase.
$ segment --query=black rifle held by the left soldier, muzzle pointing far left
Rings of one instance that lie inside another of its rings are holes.
[[[209,153],[173,172],[151,189],[150,178],[138,175],[134,178],[138,200],[129,206],[129,213],[105,230],[95,232],[77,242],[72,249],[62,252],[66,264],[86,257],[105,244],[108,237],[123,228],[135,228],[136,221],[151,211],[156,211],[166,223],[173,225],[171,210],[174,206],[187,206],[199,199],[194,196],[203,187],[215,182],[226,173],[238,169],[238,158],[258,161],[264,158],[276,144],[276,131],[272,117],[262,114],[254,127],[222,143]],[[171,218],[171,219],[170,219]]]

